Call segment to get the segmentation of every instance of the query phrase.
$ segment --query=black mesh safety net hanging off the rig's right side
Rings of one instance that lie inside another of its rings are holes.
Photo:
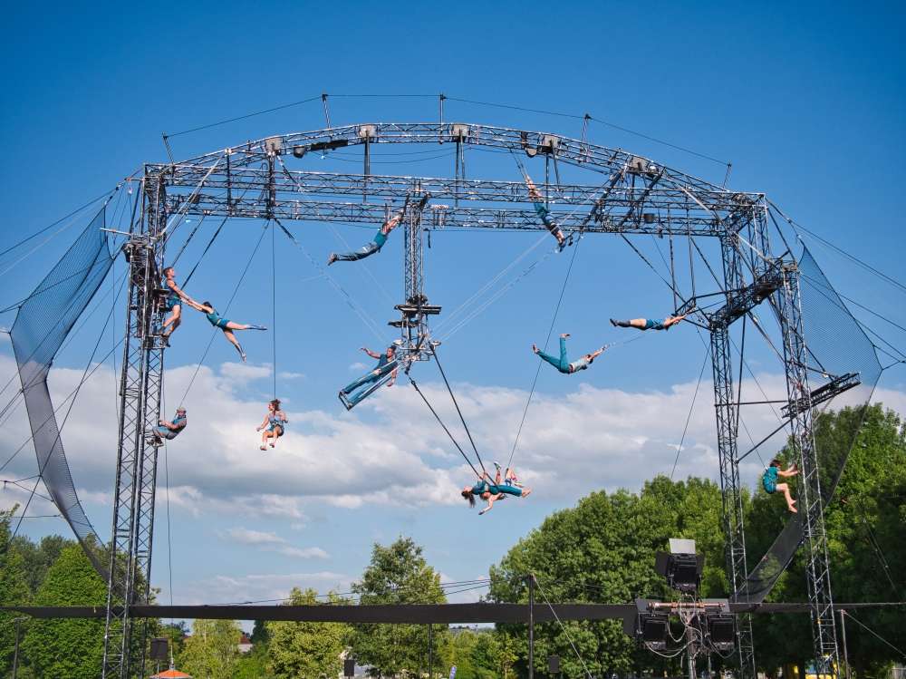
[[[816,457],[824,504],[834,496],[846,459],[853,448],[864,413],[881,378],[882,366],[874,344],[853,318],[814,257],[803,250],[799,258],[799,287],[809,390],[812,393]],[[847,409],[844,426],[833,436],[819,435],[829,426],[822,415]],[[786,416],[788,411],[784,413]],[[737,601],[760,603],[784,572],[804,539],[802,514],[787,520],[780,535],[749,573]]]

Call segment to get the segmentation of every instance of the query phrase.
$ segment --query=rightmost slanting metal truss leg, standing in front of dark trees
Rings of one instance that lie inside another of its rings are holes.
[[[812,393],[806,369],[807,348],[803,333],[802,297],[799,272],[795,265],[785,267],[785,285],[776,295],[777,311],[783,333],[786,361],[786,392],[789,401],[790,442],[799,454],[799,515],[805,533],[805,580],[812,611],[814,660],[819,675],[835,677],[840,666],[837,651],[831,571],[824,532],[824,500],[818,474],[817,451],[812,424]]]

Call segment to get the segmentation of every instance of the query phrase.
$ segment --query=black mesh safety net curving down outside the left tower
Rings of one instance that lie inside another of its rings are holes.
[[[101,230],[103,226],[104,209],[101,209],[19,307],[10,332],[38,473],[48,495],[101,574],[105,569],[96,553],[101,541],[85,515],[72,483],[47,387],[47,375],[63,341],[110,270],[113,258],[107,234]]]

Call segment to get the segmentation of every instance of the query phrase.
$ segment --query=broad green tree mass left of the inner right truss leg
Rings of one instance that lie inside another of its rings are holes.
[[[573,509],[558,511],[520,540],[499,566],[491,568],[490,596],[500,602],[527,602],[525,576],[539,583],[536,598],[550,601],[629,603],[635,597],[670,598],[654,572],[654,555],[668,538],[693,538],[705,555],[705,596],[726,596],[720,491],[708,480],[673,482],[657,477],[639,495],[620,490],[594,492]],[[564,623],[592,674],[625,673],[637,664],[653,668],[651,655],[637,651],[622,622]],[[525,626],[500,626],[525,674]],[[546,671],[547,655],[560,655],[564,676],[581,676],[583,665],[556,623],[535,626],[535,671]],[[498,673],[500,675],[501,673]]]

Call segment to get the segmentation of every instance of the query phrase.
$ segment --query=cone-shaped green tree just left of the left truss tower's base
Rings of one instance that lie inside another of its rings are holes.
[[[36,606],[104,606],[107,587],[85,557],[70,545],[47,569],[34,595]],[[103,657],[104,621],[34,620],[22,650],[37,676],[96,677]]]

